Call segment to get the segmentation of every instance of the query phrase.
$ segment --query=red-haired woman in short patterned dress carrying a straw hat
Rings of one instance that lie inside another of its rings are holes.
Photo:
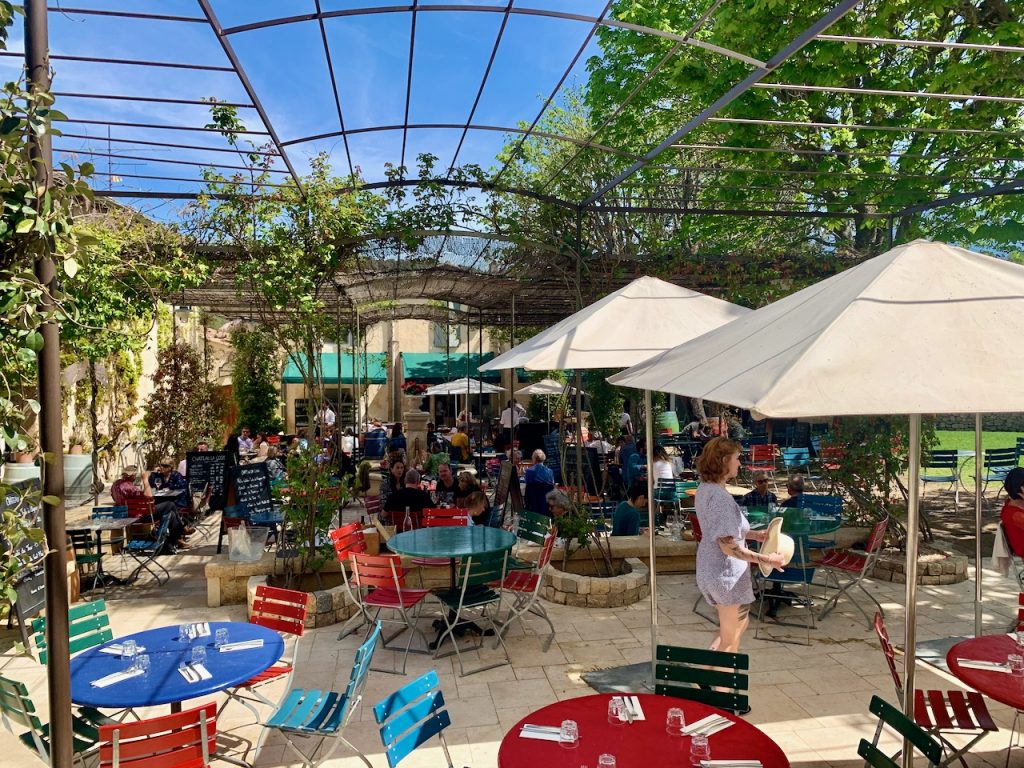
[[[754,552],[746,541],[765,541],[765,531],[751,530],[725,489],[729,480],[739,473],[738,442],[727,437],[708,441],[697,459],[697,521],[701,539],[697,545],[697,588],[718,612],[718,632],[711,643],[712,650],[735,653],[749,624],[750,603],[754,602],[750,563],[765,563],[781,568],[784,557],[778,553]]]

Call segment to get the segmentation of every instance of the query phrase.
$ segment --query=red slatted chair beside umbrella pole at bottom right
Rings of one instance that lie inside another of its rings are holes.
[[[882,643],[882,652],[885,653],[889,672],[896,684],[896,697],[899,699],[900,709],[902,709],[903,681],[896,669],[896,650],[889,640],[889,633],[886,632],[882,613],[874,614],[874,633]],[[964,768],[967,768],[964,755],[979,739],[991,731],[998,730],[995,723],[992,722],[988,708],[985,707],[985,699],[980,693],[973,690],[956,690],[955,688],[951,690],[915,688],[913,691],[913,722],[942,742],[943,752],[947,757],[940,765],[948,765],[954,760],[959,760]],[[968,736],[971,740],[966,746],[956,746],[946,738],[945,734]]]

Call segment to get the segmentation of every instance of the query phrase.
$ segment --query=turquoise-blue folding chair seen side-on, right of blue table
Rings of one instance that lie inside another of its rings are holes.
[[[374,649],[377,647],[380,635],[381,626],[378,623],[374,631],[355,651],[352,672],[344,691],[294,688],[289,691],[278,711],[266,721],[266,727],[281,732],[288,745],[302,760],[302,765],[305,768],[314,768],[321,763],[326,763],[331,759],[334,751],[338,749],[338,743],[343,743],[352,750],[368,768],[374,768],[367,756],[345,738],[344,731],[345,726],[355,715],[359,701],[362,700],[362,689],[367,684],[367,674],[370,672],[370,663],[373,659]],[[315,739],[315,745],[307,755],[296,744],[295,737]],[[335,744],[317,760],[316,753],[319,752],[328,737],[335,738]],[[257,755],[257,757],[259,756]]]

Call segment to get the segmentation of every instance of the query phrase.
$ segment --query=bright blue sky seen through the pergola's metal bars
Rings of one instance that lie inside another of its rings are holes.
[[[195,0],[66,0],[77,8],[132,10],[202,16]],[[212,0],[225,28],[272,17],[314,12],[313,0]],[[322,0],[325,11],[394,5],[384,0]],[[421,7],[436,2],[421,0]],[[445,4],[497,5],[481,0],[445,0]],[[56,5],[56,3],[51,3]],[[516,0],[516,7],[540,8],[597,15],[603,0]],[[345,125],[348,129],[397,125],[403,121],[409,41],[412,14],[379,13],[328,19],[335,75]],[[484,12],[421,12],[417,17],[417,46],[414,56],[411,123],[464,123],[470,114],[487,57],[501,24],[501,14]],[[104,56],[114,58],[227,66],[216,37],[206,25],[176,22],[123,19],[51,11],[50,49],[54,54]],[[473,122],[481,125],[515,126],[531,122],[544,99],[561,77],[590,30],[580,22],[513,14],[510,18],[486,87]],[[256,92],[283,141],[295,141],[339,129],[334,94],[316,22],[302,22],[230,36],[230,41]],[[9,49],[23,50],[18,26],[11,35]],[[585,80],[586,59],[597,53],[591,41],[569,83]],[[12,77],[20,61],[0,59],[3,74]],[[246,101],[245,91],[231,73],[193,72],[130,66],[54,61],[55,91],[102,94],[145,95],[189,98],[216,96],[222,100]],[[205,108],[89,98],[59,98],[58,109],[79,120],[114,120],[157,125],[203,126]],[[262,129],[253,110],[240,115],[250,128]],[[132,141],[170,141],[203,147],[224,146],[216,134],[150,128],[110,129],[87,123],[68,123],[65,136],[55,141],[61,152],[57,159],[84,161],[88,151],[136,157],[162,158],[208,163],[219,160],[237,163],[227,154],[194,150],[169,150]],[[416,129],[409,132],[407,163],[419,153],[440,158],[439,167],[452,162],[460,130]],[[265,136],[255,137],[265,141]],[[370,180],[383,178],[384,163],[397,164],[401,157],[400,130],[366,132],[349,137],[352,163]],[[490,167],[505,135],[471,131],[459,155],[459,163]],[[308,159],[328,152],[336,171],[347,173],[348,164],[340,137],[301,141],[289,148],[297,170],[308,168]],[[109,163],[113,166],[109,167]],[[200,169],[187,165],[96,158],[101,173],[113,172],[121,180],[117,188],[196,191],[200,185],[185,181],[131,178],[131,175],[198,178]],[[283,169],[283,166],[279,166]],[[94,185],[103,187],[108,177],[97,175]],[[173,215],[180,202],[147,202],[139,207],[159,215]]]

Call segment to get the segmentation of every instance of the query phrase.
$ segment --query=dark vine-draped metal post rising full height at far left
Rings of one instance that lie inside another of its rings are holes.
[[[29,89],[42,93],[50,87],[46,0],[25,3],[25,63],[29,71]],[[52,185],[52,147],[49,131],[29,134],[29,157],[35,169],[37,188]],[[42,206],[42,196],[37,205]],[[35,272],[47,288],[40,301],[44,313],[56,309],[52,294],[56,289],[56,269],[50,256],[50,243],[40,240]],[[74,733],[71,725],[71,669],[68,643],[68,553],[63,505],[63,434],[60,423],[60,327],[47,321],[40,327],[43,348],[39,352],[39,446],[42,449],[43,530],[48,551],[44,559],[46,579],[46,643],[49,648],[47,691],[50,715],[50,765],[71,768]]]

